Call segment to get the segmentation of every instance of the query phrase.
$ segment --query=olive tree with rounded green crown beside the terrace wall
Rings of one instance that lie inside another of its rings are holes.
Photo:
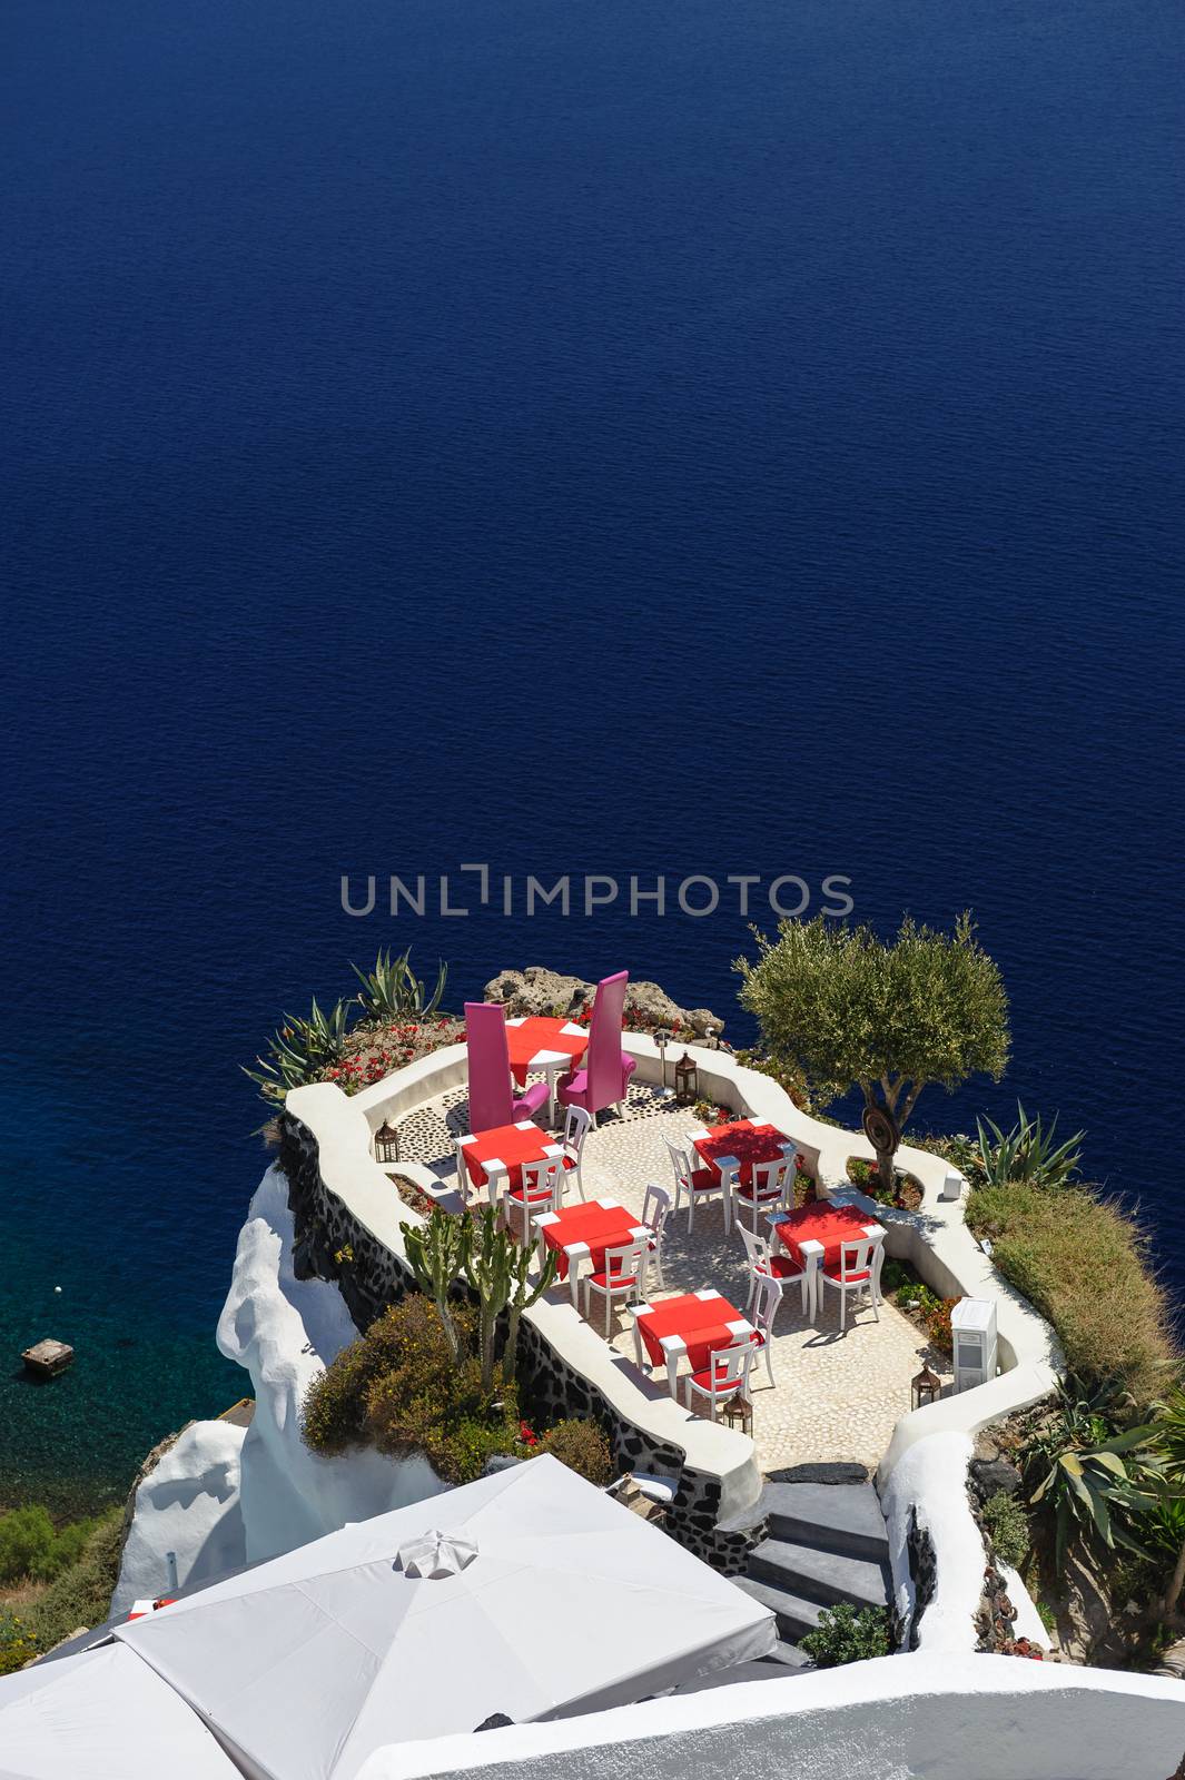
[[[893,1189],[900,1134],[931,1082],[1000,1080],[1009,1057],[1009,1002],[970,913],[954,933],[906,917],[891,945],[865,926],[783,920],[738,958],[740,1002],[774,1061],[797,1068],[820,1104],[859,1088],[881,1184]]]

